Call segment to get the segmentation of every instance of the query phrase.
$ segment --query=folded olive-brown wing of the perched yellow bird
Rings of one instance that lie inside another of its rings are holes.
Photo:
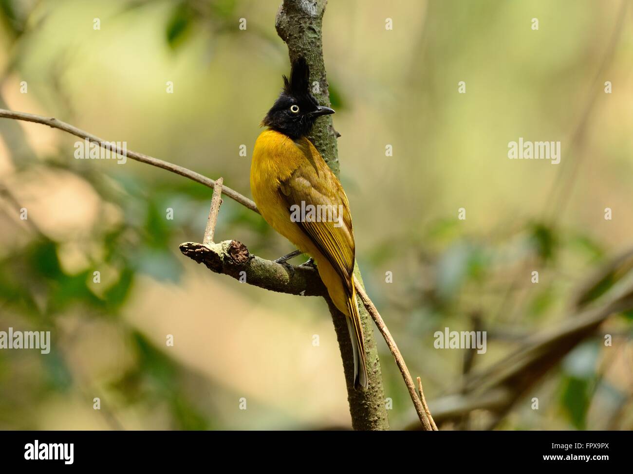
[[[320,157],[318,157],[320,158]],[[337,221],[299,221],[297,224],[334,266],[351,290],[354,271],[354,232],[348,197],[339,180],[323,159],[306,161],[280,182],[281,196],[288,205],[301,208],[312,204],[316,209],[335,209]],[[316,206],[333,206],[317,208]]]

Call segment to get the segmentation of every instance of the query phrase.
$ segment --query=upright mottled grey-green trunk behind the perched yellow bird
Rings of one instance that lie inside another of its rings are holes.
[[[321,105],[330,106],[325,65],[323,64],[322,20],[327,0],[284,0],[277,12],[275,27],[277,34],[288,46],[291,63],[299,57],[306,58],[310,65],[310,85],[313,95]],[[318,89],[314,87],[315,82]],[[332,126],[332,116],[318,120],[310,135],[323,159],[339,176],[339,159],[336,139],[339,136]],[[354,269],[358,282],[362,282],[358,266]],[[367,377],[369,388],[365,391],[354,389],[353,349],[349,339],[345,316],[326,297],[334,330],[341,349],[343,368],[348,387],[349,413],[355,430],[387,430],[387,409],[385,407],[382,373],[376,341],[373,337],[371,318],[363,304],[359,304],[363,323],[365,349],[367,351]]]

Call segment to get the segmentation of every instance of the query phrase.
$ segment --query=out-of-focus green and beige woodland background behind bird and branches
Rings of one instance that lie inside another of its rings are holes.
[[[250,196],[259,123],[289,71],[279,4],[0,1],[0,108],[125,140]],[[626,305],[509,365],[612,302],[633,268],[633,5],[330,1],[323,53],[358,263],[436,421],[633,428]],[[519,137],[560,140],[561,163],[508,159]],[[75,159],[75,141],[0,120],[0,330],[52,339],[47,355],[0,351],[0,428],[348,428],[325,302],[185,258],[211,190],[132,160]],[[230,199],[215,235],[268,259],[292,250]],[[445,327],[486,330],[487,352],[435,349]],[[391,427],[407,427],[411,401],[376,337]]]

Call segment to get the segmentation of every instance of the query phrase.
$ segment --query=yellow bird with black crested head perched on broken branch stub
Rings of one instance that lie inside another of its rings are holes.
[[[334,110],[319,105],[311,94],[305,58],[293,61],[290,78],[284,75],[283,79],[279,97],[260,124],[266,130],[253,149],[251,193],[266,222],[298,249],[277,262],[285,264],[304,253],[316,263],[330,299],[346,316],[354,388],[364,390],[368,387],[367,356],[354,289],[355,245],[348,197],[308,139],[316,120]]]

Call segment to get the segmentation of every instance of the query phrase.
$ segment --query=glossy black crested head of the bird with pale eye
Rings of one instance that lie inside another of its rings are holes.
[[[261,125],[277,130],[296,140],[310,134],[318,117],[334,113],[318,104],[310,94],[310,68],[304,58],[292,63],[290,80],[284,76],[284,90],[268,111]]]

